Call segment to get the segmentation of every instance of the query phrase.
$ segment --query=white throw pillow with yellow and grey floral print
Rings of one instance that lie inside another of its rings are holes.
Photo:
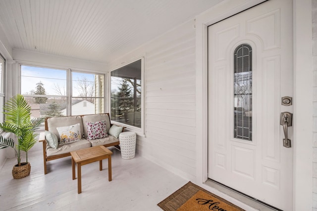
[[[56,127],[59,134],[59,144],[69,144],[81,139],[80,125]]]

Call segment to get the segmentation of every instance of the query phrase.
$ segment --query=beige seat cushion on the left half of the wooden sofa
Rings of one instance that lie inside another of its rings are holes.
[[[87,141],[86,139],[81,139],[79,141],[70,143],[70,144],[58,144],[57,149],[54,149],[47,145],[46,153],[47,156],[53,156],[53,155],[60,155],[64,153],[68,153],[75,150],[85,149],[91,147],[91,143]]]

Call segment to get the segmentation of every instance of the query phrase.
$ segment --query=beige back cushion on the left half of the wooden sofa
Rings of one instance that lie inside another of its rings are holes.
[[[48,130],[54,133],[59,141],[59,134],[56,129],[56,127],[65,127],[65,126],[71,126],[79,123],[80,125],[80,133],[83,137],[84,129],[83,129],[83,122],[81,116],[68,116],[68,117],[52,117],[47,119],[47,126]]]

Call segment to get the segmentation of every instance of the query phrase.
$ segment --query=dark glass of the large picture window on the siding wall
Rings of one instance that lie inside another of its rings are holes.
[[[111,72],[111,121],[142,127],[142,59]]]

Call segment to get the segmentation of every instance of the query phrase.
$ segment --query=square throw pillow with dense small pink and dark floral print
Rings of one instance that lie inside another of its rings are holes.
[[[98,138],[108,137],[106,130],[106,121],[86,122],[87,125],[87,140],[94,140]]]

